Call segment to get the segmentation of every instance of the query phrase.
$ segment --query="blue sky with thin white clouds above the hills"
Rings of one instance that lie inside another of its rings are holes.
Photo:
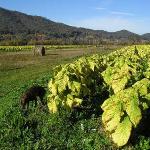
[[[150,0],[0,0],[0,7],[77,27],[150,33]]]

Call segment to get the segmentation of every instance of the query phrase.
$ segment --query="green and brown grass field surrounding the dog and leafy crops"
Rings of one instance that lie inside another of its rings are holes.
[[[47,87],[52,68],[93,53],[108,54],[115,47],[55,49],[46,56],[33,56],[29,51],[0,53],[0,149],[117,149],[103,134],[100,116],[72,114],[64,110],[50,114],[47,106],[20,109],[21,94],[31,85]],[[46,102],[46,96],[45,96]],[[149,141],[139,137],[134,148],[148,149]]]

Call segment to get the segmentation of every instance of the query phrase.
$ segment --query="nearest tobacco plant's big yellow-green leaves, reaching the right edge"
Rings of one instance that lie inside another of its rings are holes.
[[[150,107],[150,80],[142,79],[102,104],[102,122],[118,146],[125,145],[142,119],[142,111]]]

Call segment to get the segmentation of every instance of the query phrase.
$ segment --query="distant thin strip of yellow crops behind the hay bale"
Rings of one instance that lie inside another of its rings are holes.
[[[0,46],[0,52],[31,51],[35,46]],[[86,48],[90,45],[45,45],[46,49]]]

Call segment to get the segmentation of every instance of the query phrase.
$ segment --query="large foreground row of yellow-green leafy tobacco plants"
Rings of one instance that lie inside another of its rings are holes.
[[[50,112],[84,108],[101,113],[104,130],[124,146],[150,108],[150,45],[57,66],[48,87]]]

